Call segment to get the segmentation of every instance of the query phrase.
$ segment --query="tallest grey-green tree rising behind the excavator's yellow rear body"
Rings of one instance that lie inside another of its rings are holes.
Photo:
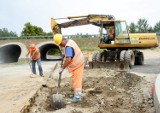
[[[146,19],[139,19],[137,22],[137,32],[146,33],[148,32],[149,24]]]

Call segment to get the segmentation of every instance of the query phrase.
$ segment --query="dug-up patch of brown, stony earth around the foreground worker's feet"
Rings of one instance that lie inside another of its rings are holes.
[[[57,83],[51,79],[48,83]],[[53,85],[53,84],[52,84]],[[61,81],[60,93],[64,95],[65,108],[55,113],[155,113],[150,83],[134,73],[115,72],[107,69],[85,69],[83,100],[68,103],[73,95],[71,78]],[[31,105],[22,112],[45,113],[51,110],[50,96],[57,85],[44,85],[35,95]]]

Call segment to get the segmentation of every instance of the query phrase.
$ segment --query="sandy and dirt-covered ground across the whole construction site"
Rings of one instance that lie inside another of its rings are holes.
[[[51,110],[50,96],[56,93],[60,61],[43,61],[45,77],[36,78],[30,77],[28,63],[1,64],[0,112],[155,113],[151,87],[160,72],[160,49],[142,51],[144,65],[134,66],[129,72],[85,68],[81,103],[69,102],[72,79],[71,73],[64,70],[60,94],[64,95],[65,106],[56,111]]]

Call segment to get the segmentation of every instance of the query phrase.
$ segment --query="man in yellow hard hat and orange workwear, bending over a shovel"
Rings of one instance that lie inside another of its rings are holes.
[[[54,35],[54,42],[63,47],[65,61],[59,73],[67,67],[72,72],[74,96],[72,102],[80,102],[82,98],[82,75],[84,70],[84,57],[78,45],[71,39],[63,38],[61,34]]]

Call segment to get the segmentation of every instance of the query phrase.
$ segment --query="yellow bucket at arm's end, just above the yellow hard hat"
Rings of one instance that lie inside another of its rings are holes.
[[[61,27],[59,26],[59,24],[57,24],[57,22],[53,18],[51,18],[51,29],[52,29],[53,35],[57,33],[61,34]]]

